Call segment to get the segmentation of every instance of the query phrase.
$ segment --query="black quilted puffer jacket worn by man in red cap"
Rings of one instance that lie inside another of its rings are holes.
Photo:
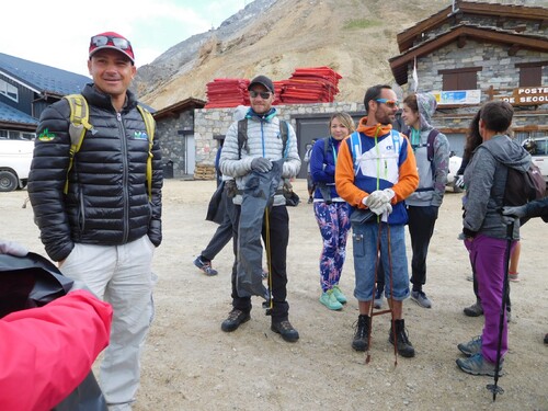
[[[152,198],[149,202],[146,169],[148,137],[137,100],[128,91],[118,114],[110,95],[85,85],[90,106],[88,132],[69,173],[70,136],[68,102],[48,106],[36,130],[28,195],[42,242],[54,261],[66,259],[75,242],[118,246],[148,235],[159,246],[161,235],[161,152],[152,148]]]

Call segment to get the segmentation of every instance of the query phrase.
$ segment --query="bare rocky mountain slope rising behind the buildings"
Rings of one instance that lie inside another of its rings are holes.
[[[484,2],[495,2],[488,0]],[[524,4],[523,0],[498,2]],[[527,0],[548,7],[548,0]],[[336,101],[361,101],[366,87],[392,83],[396,35],[452,0],[255,0],[218,28],[194,35],[138,68],[141,101],[160,110],[206,100],[215,78],[288,79],[298,67],[329,66],[343,78]]]

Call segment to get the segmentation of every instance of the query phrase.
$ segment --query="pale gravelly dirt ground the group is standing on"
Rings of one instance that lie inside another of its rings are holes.
[[[461,227],[460,194],[448,193],[439,212],[429,255],[425,290],[430,310],[404,302],[415,358],[395,357],[388,344],[388,316],[374,319],[372,362],[351,347],[357,302],[352,298],[352,241],[342,289],[350,298],[340,312],[329,311],[320,295],[320,235],[310,205],[290,207],[288,301],[300,340],[285,343],[270,331],[261,299],[253,299],[252,320],[233,333],[220,331],[230,310],[231,247],[214,261],[207,277],[192,261],[216,226],[204,220],[213,181],[167,180],[164,241],[157,250],[157,317],[142,358],[136,411],[145,410],[548,410],[548,261],[540,219],[523,229],[520,272],[512,284],[513,321],[505,392],[492,403],[486,385],[455,365],[456,344],[481,332],[483,318],[468,318],[473,301],[466,251],[456,239]],[[295,187],[306,198],[306,182]],[[0,193],[0,238],[20,241],[44,253],[26,192]],[[409,243],[409,241],[408,241]],[[408,248],[408,258],[409,258]]]

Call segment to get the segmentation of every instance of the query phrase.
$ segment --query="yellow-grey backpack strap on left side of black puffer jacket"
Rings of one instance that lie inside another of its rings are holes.
[[[75,156],[82,146],[85,132],[93,129],[90,124],[90,110],[88,102],[82,94],[65,95],[69,103],[70,117],[69,117],[69,135],[70,135],[70,150],[69,150],[69,164],[67,168],[67,180],[65,182],[64,193],[68,193],[68,174],[72,169]]]

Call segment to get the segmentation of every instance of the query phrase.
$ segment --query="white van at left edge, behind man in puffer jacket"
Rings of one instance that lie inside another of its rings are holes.
[[[0,192],[26,186],[34,141],[0,138]]]

